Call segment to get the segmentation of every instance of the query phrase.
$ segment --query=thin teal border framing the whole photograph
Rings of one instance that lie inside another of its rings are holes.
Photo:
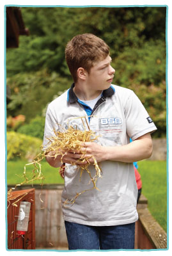
[[[70,5],[22,5],[22,4],[6,4],[4,5],[4,140],[5,140],[5,222],[6,222],[6,250],[12,251],[22,251],[22,252],[99,252],[99,250],[20,250],[20,249],[8,249],[8,221],[7,221],[7,146],[6,146],[6,7],[17,6],[17,7],[63,7],[63,8],[91,8],[91,7],[105,7],[105,8],[132,8],[132,7],[166,7],[166,139],[167,139],[167,248],[165,249],[150,249],[150,250],[104,250],[104,252],[118,252],[118,251],[140,251],[140,252],[150,252],[150,251],[166,251],[169,250],[169,130],[168,130],[168,5],[83,5],[83,6],[70,6]]]

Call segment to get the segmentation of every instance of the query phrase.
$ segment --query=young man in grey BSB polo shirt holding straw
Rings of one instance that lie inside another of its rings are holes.
[[[90,129],[100,136],[97,143],[83,143],[81,152],[86,149],[85,157],[95,156],[102,168],[102,179],[97,180],[100,191],[86,191],[71,207],[62,204],[69,249],[133,249],[138,218],[133,162],[151,156],[150,132],[157,128],[134,92],[111,84],[115,70],[109,47],[102,39],[91,34],[74,36],[65,54],[74,83],[47,108],[44,145],[46,137],[60,129],[58,124],[84,130],[81,118],[75,117],[87,116]],[[61,166],[61,156],[55,159],[53,155],[47,156],[48,163]],[[92,188],[87,172],[82,172],[79,182],[80,157],[80,152],[71,151],[63,157],[62,202]],[[94,175],[92,158],[90,163]]]

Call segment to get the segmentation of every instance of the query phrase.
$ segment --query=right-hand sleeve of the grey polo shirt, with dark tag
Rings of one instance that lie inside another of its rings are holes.
[[[148,132],[157,130],[141,100],[132,91],[125,104],[125,120],[127,134],[132,140],[136,140]]]

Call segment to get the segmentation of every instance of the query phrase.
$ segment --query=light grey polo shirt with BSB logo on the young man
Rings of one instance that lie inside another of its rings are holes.
[[[47,143],[46,137],[54,134],[54,129],[61,129],[58,124],[65,128],[77,125],[77,129],[88,129],[80,118],[75,119],[79,116],[86,116],[90,129],[99,135],[97,143],[109,147],[126,145],[130,143],[130,138],[136,140],[157,129],[132,90],[111,84],[109,89],[102,92],[102,97],[92,110],[77,99],[73,87],[74,84],[49,104],[43,145]],[[87,113],[93,115],[90,120]],[[136,221],[137,184],[133,164],[118,161],[103,161],[99,164],[102,178],[97,180],[97,188],[100,191],[86,191],[78,196],[71,207],[64,207],[66,199],[74,198],[84,189],[93,188],[87,172],[82,172],[79,181],[79,168],[66,164],[65,186],[61,197],[64,219],[95,226],[123,225]],[[93,177],[94,166],[90,165],[89,170]]]

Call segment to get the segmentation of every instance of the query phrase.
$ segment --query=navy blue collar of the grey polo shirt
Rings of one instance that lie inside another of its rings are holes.
[[[74,93],[74,86],[75,86],[75,83],[72,84],[71,88],[68,90],[68,102],[69,103],[74,103],[74,102],[77,102],[77,97]],[[108,89],[104,90],[102,92],[102,96],[104,96],[104,98],[106,97],[111,97],[112,95],[114,95],[114,88],[113,86],[110,86]]]

